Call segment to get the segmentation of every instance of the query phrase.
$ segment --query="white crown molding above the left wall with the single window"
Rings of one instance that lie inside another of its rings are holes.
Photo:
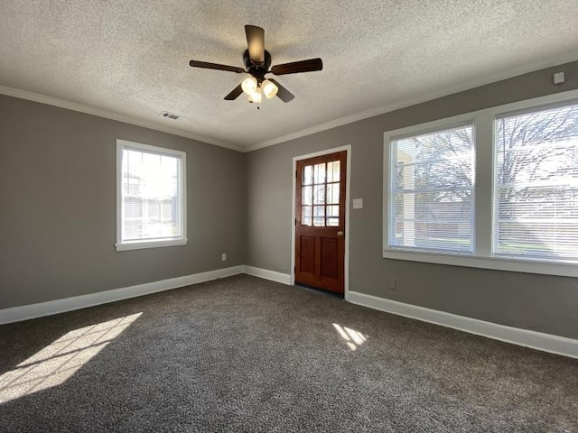
[[[166,127],[161,124],[155,124],[154,122],[138,119],[130,115],[121,115],[119,113],[103,110],[101,108],[96,108],[93,106],[85,106],[83,104],[77,104],[76,102],[65,101],[57,97],[47,97],[45,95],[40,95],[38,93],[21,90],[19,88],[8,88],[6,86],[0,86],[0,95],[5,95],[7,97],[18,97],[20,99],[39,102],[41,104],[46,104],[49,106],[58,106],[60,108],[65,108],[67,110],[78,111],[79,113],[84,113],[86,115],[97,115],[98,117],[104,117],[105,119],[116,120],[117,122],[123,122],[125,124],[134,124],[135,126],[142,126],[144,128],[154,129],[154,131],[160,131],[161,133],[178,135],[180,137],[189,138],[191,140],[196,140],[198,142],[209,143],[219,147],[225,147],[232,151],[247,152],[245,149],[242,149],[233,144],[220,142],[219,140],[214,140],[210,137],[191,134],[186,131],[182,131],[181,129],[178,128]]]

